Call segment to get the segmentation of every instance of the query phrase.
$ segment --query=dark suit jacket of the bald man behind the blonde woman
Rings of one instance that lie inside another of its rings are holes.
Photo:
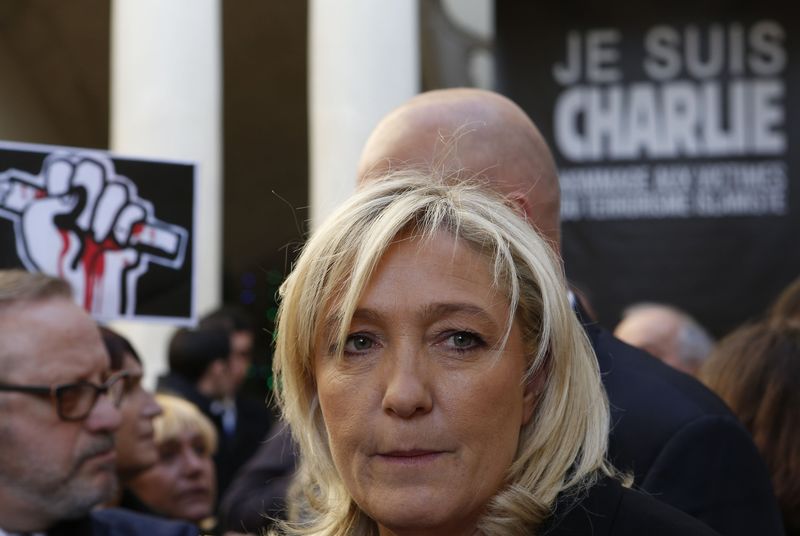
[[[611,462],[633,473],[635,487],[724,536],[783,534],[764,462],[725,404],[577,309],[611,404]]]

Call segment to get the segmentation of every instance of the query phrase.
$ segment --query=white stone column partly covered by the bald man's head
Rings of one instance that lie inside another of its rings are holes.
[[[309,159],[312,225],[355,189],[372,128],[419,92],[416,0],[310,0]]]

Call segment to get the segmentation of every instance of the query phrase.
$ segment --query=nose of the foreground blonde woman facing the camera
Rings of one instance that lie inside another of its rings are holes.
[[[403,419],[430,412],[433,392],[424,356],[419,358],[417,349],[404,345],[387,357],[382,367],[385,374],[383,410]]]

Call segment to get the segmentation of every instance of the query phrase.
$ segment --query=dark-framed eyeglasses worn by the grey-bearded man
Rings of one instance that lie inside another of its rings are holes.
[[[122,395],[125,393],[128,376],[130,376],[128,371],[117,372],[109,376],[102,385],[87,381],[64,383],[51,387],[0,383],[0,391],[49,396],[55,402],[58,417],[62,421],[80,421],[89,415],[101,394],[108,394],[114,406],[119,407]]]

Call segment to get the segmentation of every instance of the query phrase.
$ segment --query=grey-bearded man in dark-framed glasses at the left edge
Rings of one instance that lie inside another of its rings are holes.
[[[182,523],[92,512],[116,489],[125,372],[109,374],[96,324],[69,286],[0,271],[0,536],[197,534]]]

